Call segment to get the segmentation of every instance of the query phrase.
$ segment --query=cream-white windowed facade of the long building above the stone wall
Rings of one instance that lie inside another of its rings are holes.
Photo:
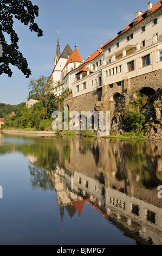
[[[149,8],[151,8],[150,4]],[[139,12],[139,14],[142,13]],[[92,62],[85,64],[94,73],[87,74],[79,81],[73,80],[73,97],[92,92],[103,85],[121,82],[125,78],[162,69],[161,7],[155,13],[142,19],[136,26],[127,29],[125,33],[121,33],[107,45],[103,45],[103,50],[104,52]],[[142,63],[145,56],[150,56],[148,65]],[[99,62],[100,59],[101,66],[95,65],[93,68],[95,62]],[[86,88],[83,88],[84,83],[86,83]]]

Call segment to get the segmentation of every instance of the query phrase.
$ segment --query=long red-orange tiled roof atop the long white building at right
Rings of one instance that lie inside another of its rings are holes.
[[[143,19],[142,16],[143,16],[144,14],[147,13],[148,16],[149,16],[150,14],[154,13],[154,11],[158,10],[158,9],[161,7],[161,5],[162,5],[162,1],[160,0],[158,3],[156,3],[156,4],[153,5],[153,7],[151,8],[150,11],[148,11],[148,10],[144,11],[144,13],[142,13],[139,17],[135,18],[135,19],[134,19],[133,21],[131,21],[124,29],[122,29],[121,34],[122,34],[122,32],[128,31],[128,29],[130,28],[129,25],[131,25],[132,23],[135,23],[135,25],[136,25],[137,23],[139,23],[139,22]],[[115,40],[115,39],[118,38],[119,36],[120,36],[120,35],[116,35],[113,40]],[[113,40],[109,40],[108,42],[106,42],[106,44],[102,45],[102,47],[105,47],[106,45],[109,44],[109,42],[111,42],[111,41],[113,41]]]

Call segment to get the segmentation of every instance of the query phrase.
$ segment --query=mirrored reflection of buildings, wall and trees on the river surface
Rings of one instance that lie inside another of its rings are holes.
[[[140,244],[162,243],[161,143],[115,139],[32,138],[0,144],[0,154],[27,156],[34,188],[55,190],[62,232],[64,211],[81,217],[90,204]]]

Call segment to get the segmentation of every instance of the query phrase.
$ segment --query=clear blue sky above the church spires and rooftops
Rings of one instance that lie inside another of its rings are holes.
[[[60,50],[68,43],[72,50],[76,42],[82,59],[95,52],[100,45],[113,39],[116,34],[135,19],[135,13],[147,10],[148,0],[31,0],[39,7],[35,22],[43,30],[38,38],[29,27],[16,21],[15,31],[20,39],[19,50],[27,58],[32,75],[25,78],[20,70],[11,66],[12,77],[0,76],[0,102],[18,104],[28,96],[30,78],[49,76],[54,68],[57,31]],[[158,0],[152,1],[153,4]]]

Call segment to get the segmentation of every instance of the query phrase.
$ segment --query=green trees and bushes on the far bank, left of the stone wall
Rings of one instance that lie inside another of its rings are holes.
[[[21,103],[21,107],[23,107],[17,108],[16,116],[10,117],[10,114],[5,116],[2,129],[14,127],[15,129],[47,130],[48,127],[51,127],[51,115],[58,108],[55,95],[50,93],[51,86],[53,86],[51,77],[31,78],[28,99],[36,97],[35,99],[40,101],[29,108]]]

